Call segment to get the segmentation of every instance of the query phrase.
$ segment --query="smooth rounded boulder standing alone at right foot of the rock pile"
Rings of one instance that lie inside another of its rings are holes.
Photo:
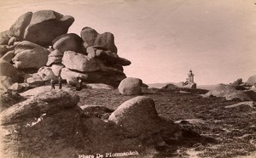
[[[142,93],[143,81],[139,78],[128,77],[119,84],[119,93],[124,95],[139,95]]]

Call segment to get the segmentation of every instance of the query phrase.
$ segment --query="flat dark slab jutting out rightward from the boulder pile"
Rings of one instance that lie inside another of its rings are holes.
[[[97,57],[111,65],[131,65],[131,61],[128,59],[120,58],[118,54],[113,53],[106,48],[100,46],[91,46],[86,49],[87,54],[91,57]]]

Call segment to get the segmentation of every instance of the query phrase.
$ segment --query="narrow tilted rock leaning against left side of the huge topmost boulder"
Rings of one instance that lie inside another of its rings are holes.
[[[24,31],[26,26],[29,25],[31,19],[32,12],[27,12],[26,14],[20,15],[20,17],[15,21],[15,24],[9,28],[10,35],[23,40]]]

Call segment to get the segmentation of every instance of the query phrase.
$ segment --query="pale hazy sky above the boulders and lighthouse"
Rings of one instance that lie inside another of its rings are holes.
[[[0,31],[28,11],[55,10],[85,26],[112,32],[128,77],[145,83],[200,85],[244,82],[256,75],[256,0],[0,0]]]

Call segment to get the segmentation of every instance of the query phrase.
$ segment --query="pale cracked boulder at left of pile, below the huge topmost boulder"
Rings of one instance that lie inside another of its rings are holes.
[[[15,58],[13,62],[17,69],[36,68],[46,65],[49,50],[38,44],[23,41],[15,47]]]

